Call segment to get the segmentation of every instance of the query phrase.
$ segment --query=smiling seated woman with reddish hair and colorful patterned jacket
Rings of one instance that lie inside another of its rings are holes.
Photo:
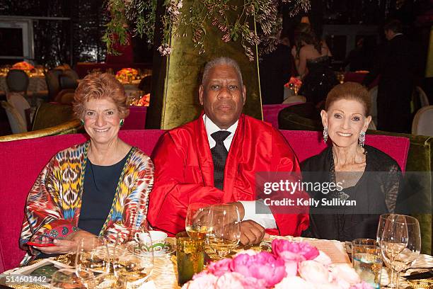
[[[154,165],[117,137],[129,113],[122,84],[111,74],[89,74],[74,101],[90,140],[58,152],[37,177],[25,205],[22,264],[74,251],[83,237],[125,239],[146,220]]]

